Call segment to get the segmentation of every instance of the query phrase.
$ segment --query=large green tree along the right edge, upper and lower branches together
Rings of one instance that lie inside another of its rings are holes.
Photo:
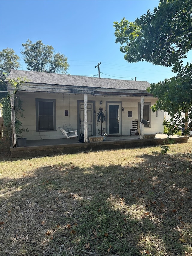
[[[170,121],[191,129],[191,63],[183,59],[191,50],[191,2],[188,0],[161,0],[153,12],[147,11],[135,22],[125,18],[114,22],[116,43],[128,62],[147,61],[155,65],[172,66],[176,77],[151,84],[148,91],[158,97],[152,110],[164,110]],[[189,112],[181,119],[181,113]],[[186,131],[187,132],[187,131]]]

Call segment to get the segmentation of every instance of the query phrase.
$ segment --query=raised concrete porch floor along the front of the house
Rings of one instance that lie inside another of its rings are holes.
[[[176,143],[187,143],[189,137],[172,135]],[[78,137],[70,139],[28,140],[26,147],[10,147],[12,157],[31,157],[52,154],[71,154],[87,150],[119,149],[162,145],[167,134],[156,134],[154,139],[140,139],[140,136],[106,137],[102,142],[78,143]]]

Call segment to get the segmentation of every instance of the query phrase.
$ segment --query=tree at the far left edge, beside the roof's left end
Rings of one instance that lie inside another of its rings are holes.
[[[0,52],[0,91],[7,91],[5,79],[11,69],[17,69],[19,65],[19,56],[13,49],[6,48]],[[5,97],[7,93],[0,93],[0,98]]]

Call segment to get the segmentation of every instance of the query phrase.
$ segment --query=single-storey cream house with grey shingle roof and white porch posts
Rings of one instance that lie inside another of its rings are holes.
[[[84,133],[87,142],[88,136],[97,136],[101,130],[100,107],[105,111],[102,127],[108,136],[130,136],[132,120],[138,120],[141,139],[144,134],[163,133],[164,112],[152,112],[157,99],[147,92],[148,82],[11,70],[8,78],[17,77],[28,80],[18,90],[24,109],[19,120],[29,129],[22,134],[27,140],[63,138],[61,127],[77,130],[78,136]],[[13,91],[8,80],[7,88]],[[141,123],[143,119],[150,124]]]

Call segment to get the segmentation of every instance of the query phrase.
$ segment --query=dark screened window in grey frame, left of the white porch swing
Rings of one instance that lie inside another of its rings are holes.
[[[54,99],[36,99],[36,130],[56,131],[56,102]]]

